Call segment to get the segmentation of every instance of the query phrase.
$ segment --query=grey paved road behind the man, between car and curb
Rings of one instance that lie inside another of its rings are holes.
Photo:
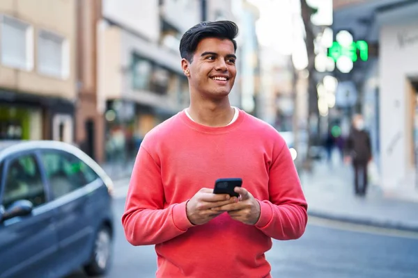
[[[155,277],[153,246],[132,247],[123,236],[126,188],[117,186],[114,265],[106,277]],[[418,278],[418,234],[310,218],[300,240],[275,241],[267,257],[273,277]]]

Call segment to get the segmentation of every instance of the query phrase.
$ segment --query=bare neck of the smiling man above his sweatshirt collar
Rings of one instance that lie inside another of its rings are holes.
[[[219,101],[191,100],[187,111],[195,122],[212,127],[226,126],[235,113],[229,104],[228,97]]]

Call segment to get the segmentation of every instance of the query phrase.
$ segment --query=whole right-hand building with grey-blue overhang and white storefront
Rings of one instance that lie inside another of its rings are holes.
[[[357,112],[371,133],[380,186],[387,194],[418,188],[418,3],[369,0],[334,10],[334,32],[349,30],[369,44],[369,60],[354,67]],[[367,20],[366,20],[367,19]]]

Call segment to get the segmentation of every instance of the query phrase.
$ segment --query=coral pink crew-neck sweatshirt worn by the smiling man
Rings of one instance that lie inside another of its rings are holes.
[[[219,178],[240,177],[261,215],[247,225],[223,213],[194,226],[186,202]],[[300,238],[307,202],[291,154],[272,126],[240,111],[229,126],[197,124],[184,111],[141,144],[122,217],[132,245],[155,245],[157,277],[270,277],[272,238]]]

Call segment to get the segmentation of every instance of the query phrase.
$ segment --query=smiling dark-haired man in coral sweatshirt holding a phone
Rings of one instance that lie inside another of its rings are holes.
[[[302,236],[307,202],[286,142],[231,107],[233,22],[202,22],[180,41],[190,106],[150,131],[132,171],[122,223],[132,245],[155,245],[157,277],[271,277],[272,238]],[[241,178],[240,197],[213,194]]]

